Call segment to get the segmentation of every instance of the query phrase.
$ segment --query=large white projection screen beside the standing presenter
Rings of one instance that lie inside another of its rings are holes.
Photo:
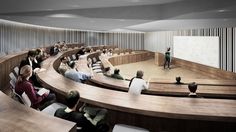
[[[219,37],[174,36],[176,58],[219,68]]]

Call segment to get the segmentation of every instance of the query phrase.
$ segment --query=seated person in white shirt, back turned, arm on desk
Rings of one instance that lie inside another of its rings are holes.
[[[140,95],[142,90],[148,89],[148,87],[149,81],[146,83],[146,81],[143,80],[143,71],[137,71],[136,77],[130,80],[128,93]]]

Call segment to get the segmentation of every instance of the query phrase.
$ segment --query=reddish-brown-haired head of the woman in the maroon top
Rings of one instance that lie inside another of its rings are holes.
[[[20,75],[18,81],[27,80],[32,76],[32,67],[30,65],[25,65],[20,69]]]

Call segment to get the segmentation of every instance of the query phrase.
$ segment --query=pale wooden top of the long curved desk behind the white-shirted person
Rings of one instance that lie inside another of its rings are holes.
[[[236,101],[225,99],[198,99],[152,95],[132,96],[126,92],[109,90],[77,83],[57,73],[53,63],[61,53],[43,62],[46,71],[38,79],[52,90],[66,94],[80,92],[81,101],[108,109],[153,117],[236,122]]]

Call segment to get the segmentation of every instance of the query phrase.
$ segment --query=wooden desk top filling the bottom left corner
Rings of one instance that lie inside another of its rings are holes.
[[[1,132],[76,132],[76,124],[24,106],[0,91]]]

